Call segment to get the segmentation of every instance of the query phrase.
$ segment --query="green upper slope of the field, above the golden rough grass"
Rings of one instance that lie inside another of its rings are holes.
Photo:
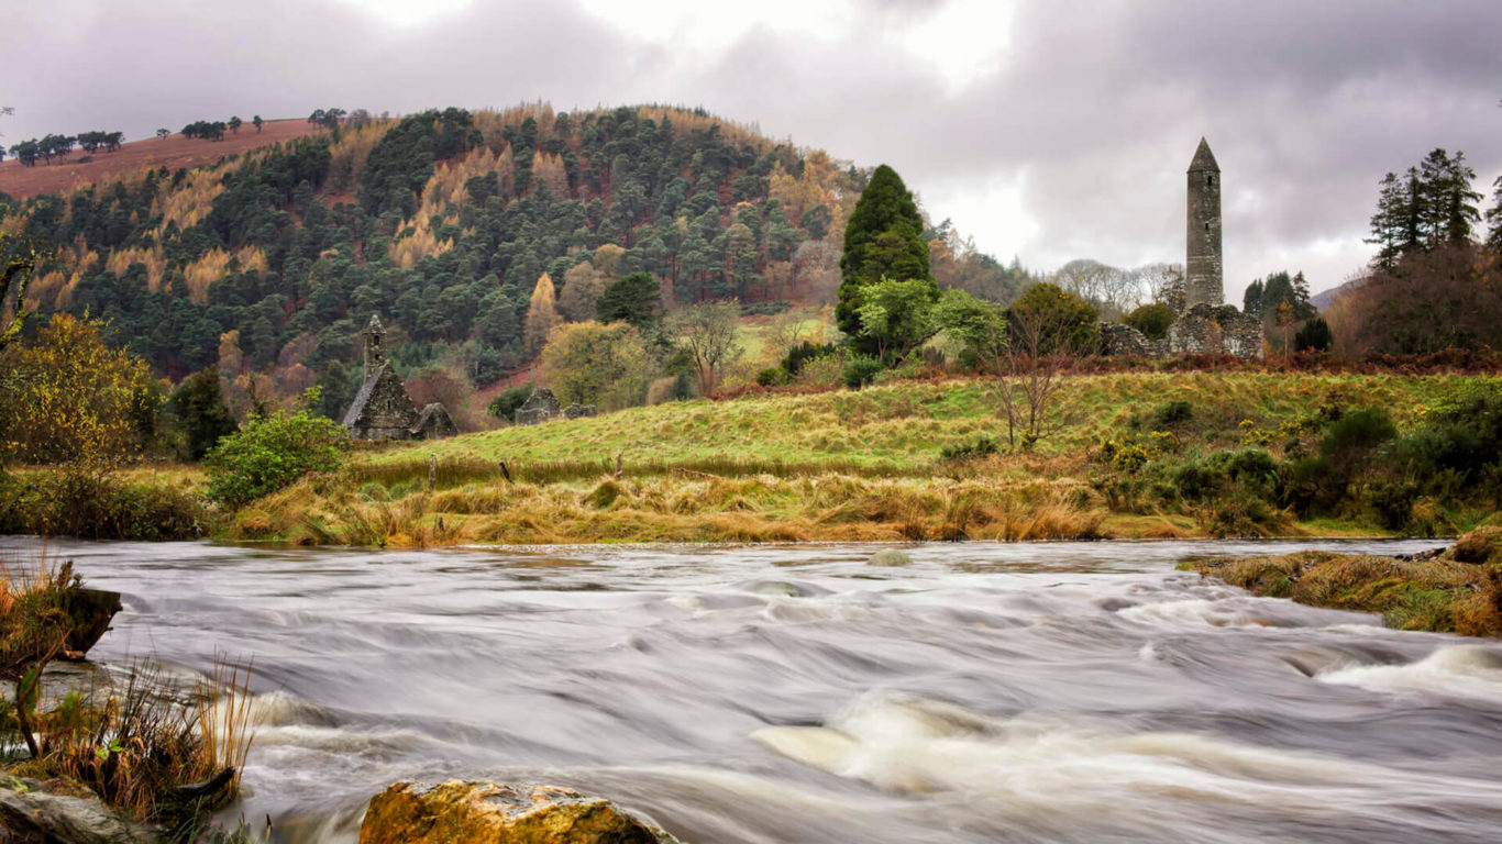
[[[1386,407],[1410,425],[1461,375],[1329,375],[1274,372],[1130,372],[1069,378],[1060,392],[1068,416],[1042,454],[1078,454],[1134,414],[1185,399],[1209,442],[1235,443],[1242,419],[1259,427],[1296,419],[1322,404]],[[439,460],[494,463],[614,461],[689,466],[722,460],[838,467],[931,467],[948,443],[990,434],[1005,443],[996,392],[985,380],[898,383],[814,395],[749,395],[634,407],[593,419],[502,428],[376,451],[362,463]]]

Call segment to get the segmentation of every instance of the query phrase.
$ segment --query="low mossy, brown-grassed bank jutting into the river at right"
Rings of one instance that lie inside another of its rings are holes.
[[[1401,557],[1299,551],[1184,568],[1253,595],[1380,613],[1389,628],[1502,637],[1502,529],[1491,524],[1449,548]]]

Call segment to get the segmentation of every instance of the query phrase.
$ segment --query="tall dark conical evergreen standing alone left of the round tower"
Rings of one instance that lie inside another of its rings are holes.
[[[840,305],[835,318],[840,330],[861,336],[861,288],[891,278],[927,281],[930,300],[939,299],[939,285],[928,267],[928,243],[922,239],[924,221],[913,194],[901,176],[888,165],[871,174],[846,224],[844,252],[840,257]],[[874,345],[859,344],[858,345]],[[862,348],[874,351],[874,348]]]

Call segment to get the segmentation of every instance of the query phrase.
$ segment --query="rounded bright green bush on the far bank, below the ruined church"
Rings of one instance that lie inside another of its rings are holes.
[[[291,485],[309,472],[333,472],[344,463],[348,434],[308,407],[317,402],[309,390],[303,405],[254,416],[209,452],[209,499],[230,508],[245,506],[261,496]]]

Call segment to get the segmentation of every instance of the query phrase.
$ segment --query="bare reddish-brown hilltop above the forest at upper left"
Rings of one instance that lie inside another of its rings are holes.
[[[98,182],[117,180],[149,168],[195,170],[225,156],[321,131],[324,129],[306,120],[267,120],[260,132],[246,125],[239,132],[225,135],[222,141],[173,134],[167,138],[129,141],[117,152],[99,152],[92,156],[75,152],[72,158],[57,164],[24,167],[20,161],[11,159],[0,162],[0,194],[26,200],[42,194],[71,194]]]

